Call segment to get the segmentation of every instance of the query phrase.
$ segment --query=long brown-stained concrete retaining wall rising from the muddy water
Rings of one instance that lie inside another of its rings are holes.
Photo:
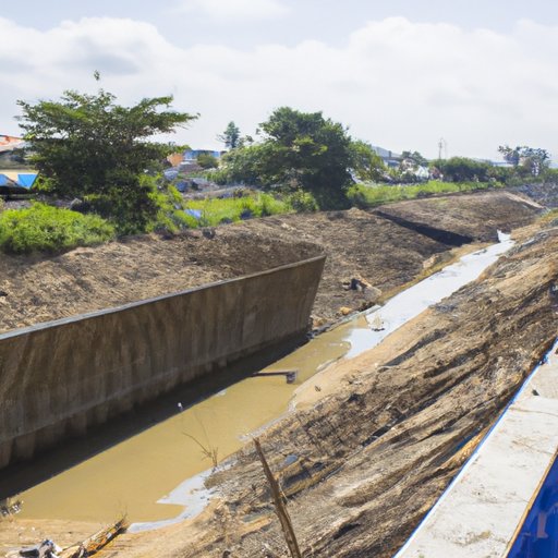
[[[300,339],[325,256],[0,335],[0,468]]]

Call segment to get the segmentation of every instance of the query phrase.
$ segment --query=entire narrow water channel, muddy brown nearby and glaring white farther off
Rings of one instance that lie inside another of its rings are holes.
[[[377,314],[325,332],[267,368],[298,368],[292,385],[281,376],[247,377],[182,411],[180,392],[175,401],[167,398],[172,411],[166,420],[23,492],[21,517],[108,522],[125,512],[131,521],[149,524],[178,517],[189,501],[184,498],[189,483],[184,481],[199,484],[196,475],[211,466],[201,446],[208,452],[215,450],[219,460],[241,448],[250,433],[287,411],[301,383],[337,359],[371,349],[427,306],[478,277],[512,245],[507,236],[500,241],[411,287]],[[384,329],[374,331],[378,320]],[[182,489],[174,490],[179,486]]]

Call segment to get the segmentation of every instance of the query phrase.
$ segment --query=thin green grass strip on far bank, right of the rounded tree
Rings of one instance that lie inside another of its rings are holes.
[[[450,194],[454,192],[473,192],[488,187],[501,187],[498,183],[487,182],[440,182],[430,180],[423,184],[385,185],[355,184],[349,189],[349,199],[352,205],[362,208],[376,207],[402,199],[414,199],[420,196]]]

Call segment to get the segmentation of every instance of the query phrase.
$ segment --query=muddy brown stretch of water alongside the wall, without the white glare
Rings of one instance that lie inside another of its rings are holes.
[[[20,517],[104,522],[126,512],[135,522],[177,515],[182,506],[157,500],[211,466],[199,445],[218,459],[240,449],[245,436],[286,412],[302,381],[350,349],[348,327],[354,326],[326,332],[265,368],[298,368],[294,384],[282,376],[247,377],[182,412],[180,399],[167,398],[171,417],[23,492]]]

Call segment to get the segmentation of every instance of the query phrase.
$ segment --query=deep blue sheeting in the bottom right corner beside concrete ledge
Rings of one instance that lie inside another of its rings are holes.
[[[558,459],[513,543],[508,558],[558,557]]]

